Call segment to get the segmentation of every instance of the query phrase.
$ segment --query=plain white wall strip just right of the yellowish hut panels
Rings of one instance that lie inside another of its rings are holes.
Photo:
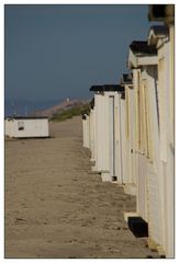
[[[159,123],[157,113],[157,93],[156,67],[147,69],[147,91],[148,91],[148,111],[150,116],[152,135],[152,160],[147,163],[147,186],[148,186],[148,224],[149,235],[156,243],[161,244],[161,190],[159,183],[160,176],[160,147],[159,147]]]

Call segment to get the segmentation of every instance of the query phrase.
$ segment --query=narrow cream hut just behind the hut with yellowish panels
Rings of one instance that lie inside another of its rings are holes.
[[[120,84],[124,87],[124,94],[121,98],[123,184],[126,193],[135,195],[135,98],[132,73],[123,75]]]

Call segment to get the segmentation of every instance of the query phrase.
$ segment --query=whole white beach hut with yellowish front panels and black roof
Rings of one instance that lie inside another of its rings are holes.
[[[148,224],[148,236],[161,244],[159,115],[157,49],[147,42],[130,45],[127,66],[135,92],[135,171],[137,215]]]

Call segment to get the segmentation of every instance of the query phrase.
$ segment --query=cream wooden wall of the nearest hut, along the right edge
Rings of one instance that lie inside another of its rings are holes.
[[[163,243],[169,256],[174,255],[174,123],[170,100],[170,43],[158,49],[158,85],[159,85],[159,121],[160,121],[160,185]],[[174,73],[174,72],[172,72]]]

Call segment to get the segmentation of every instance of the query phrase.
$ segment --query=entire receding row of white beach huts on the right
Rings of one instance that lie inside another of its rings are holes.
[[[136,195],[136,211],[125,215],[133,233],[174,258],[174,5],[152,4],[148,16],[164,24],[153,25],[146,41],[131,43],[128,73],[119,84],[90,88],[83,147],[102,181]]]

